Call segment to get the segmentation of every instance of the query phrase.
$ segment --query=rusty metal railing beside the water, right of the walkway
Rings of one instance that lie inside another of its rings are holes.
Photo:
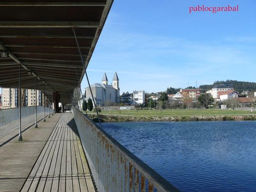
[[[74,106],[72,113],[98,192],[178,191]]]

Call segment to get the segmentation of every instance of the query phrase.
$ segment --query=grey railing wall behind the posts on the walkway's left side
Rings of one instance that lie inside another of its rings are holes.
[[[45,107],[45,114],[49,111],[48,107]],[[50,111],[52,112],[52,111]],[[37,106],[37,113],[43,113],[43,106]],[[21,118],[26,118],[35,114],[35,106],[22,107]],[[13,121],[19,120],[19,108],[1,109],[0,110],[0,127],[5,126]]]

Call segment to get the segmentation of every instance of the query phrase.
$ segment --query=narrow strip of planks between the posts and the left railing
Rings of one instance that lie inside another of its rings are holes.
[[[47,115],[47,114],[46,114]],[[48,118],[48,117],[46,117]],[[37,122],[43,119],[43,113],[37,114]],[[21,130],[24,131],[35,124],[35,115],[21,119]],[[19,133],[19,120],[0,127],[0,145]]]

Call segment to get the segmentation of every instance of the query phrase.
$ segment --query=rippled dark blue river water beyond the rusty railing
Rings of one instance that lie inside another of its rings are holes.
[[[256,192],[256,122],[104,123],[184,192]]]

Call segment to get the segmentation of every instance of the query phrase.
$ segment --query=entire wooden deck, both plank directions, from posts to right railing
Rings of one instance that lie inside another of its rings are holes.
[[[0,147],[0,192],[95,192],[72,113],[46,121]]]

